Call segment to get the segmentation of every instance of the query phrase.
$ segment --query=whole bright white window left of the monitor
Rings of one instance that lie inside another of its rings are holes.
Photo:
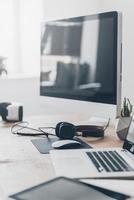
[[[0,0],[0,76],[39,75],[42,13],[42,0]]]

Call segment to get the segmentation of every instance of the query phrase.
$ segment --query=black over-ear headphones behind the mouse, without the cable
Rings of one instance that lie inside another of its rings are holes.
[[[108,124],[107,124],[108,126]],[[95,125],[79,125],[75,126],[68,122],[59,122],[56,125],[55,133],[61,139],[72,139],[74,136],[80,136],[81,132],[83,137],[104,137],[104,131],[107,128]]]

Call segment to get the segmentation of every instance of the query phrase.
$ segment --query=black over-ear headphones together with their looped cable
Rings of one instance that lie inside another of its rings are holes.
[[[83,137],[104,137],[104,132],[108,127],[110,119],[107,122],[105,127],[96,126],[96,125],[78,125],[75,126],[69,122],[59,122],[56,127],[39,127],[38,129],[28,126],[28,122],[22,121],[15,123],[11,127],[11,132],[13,134],[18,134],[22,136],[38,136],[38,135],[49,135],[57,136],[60,139],[73,139],[74,136],[83,136]],[[25,132],[24,129],[31,130],[31,133]],[[44,129],[55,129],[55,134],[48,133]],[[32,133],[35,132],[35,133]]]

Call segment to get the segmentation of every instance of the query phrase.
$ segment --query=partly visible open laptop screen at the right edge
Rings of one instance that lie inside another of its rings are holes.
[[[130,153],[134,154],[134,121],[132,120],[126,140],[124,141],[123,149],[128,150]]]

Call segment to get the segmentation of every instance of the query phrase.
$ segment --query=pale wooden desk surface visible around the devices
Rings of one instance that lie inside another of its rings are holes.
[[[85,116],[48,115],[29,117],[30,126],[53,125],[59,121],[77,123]],[[40,154],[31,143],[33,137],[11,134],[11,124],[0,123],[0,199],[55,177],[49,154]],[[35,138],[35,137],[34,137]],[[112,126],[106,131],[104,139],[87,138],[93,147],[121,147]]]

